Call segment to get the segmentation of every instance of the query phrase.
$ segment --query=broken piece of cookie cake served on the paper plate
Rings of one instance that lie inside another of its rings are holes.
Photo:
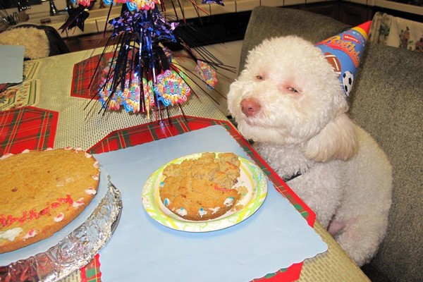
[[[240,176],[240,160],[233,153],[203,153],[198,159],[166,166],[163,175],[161,202],[183,219],[216,219],[240,199],[233,187]]]

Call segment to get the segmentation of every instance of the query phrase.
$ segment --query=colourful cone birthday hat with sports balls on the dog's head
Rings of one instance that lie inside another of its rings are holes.
[[[338,73],[345,99],[350,96],[371,24],[372,21],[369,20],[315,45],[331,63],[333,71]]]

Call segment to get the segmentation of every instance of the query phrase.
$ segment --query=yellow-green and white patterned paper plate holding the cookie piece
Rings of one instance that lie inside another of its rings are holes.
[[[161,166],[154,171],[147,179],[142,189],[142,204],[145,211],[158,223],[179,231],[188,232],[208,232],[228,228],[244,221],[254,214],[262,206],[267,195],[267,178],[263,171],[251,161],[238,157],[240,159],[240,178],[236,186],[245,186],[247,192],[241,197],[239,204],[243,208],[238,211],[228,211],[226,214],[207,221],[190,221],[173,214],[159,197],[159,187],[164,181],[163,170],[169,164],[180,164],[185,159],[198,159],[202,153],[190,154],[180,157]],[[216,153],[219,154],[219,153]]]

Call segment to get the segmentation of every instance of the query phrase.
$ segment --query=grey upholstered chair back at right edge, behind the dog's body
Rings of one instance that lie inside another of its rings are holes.
[[[422,68],[423,54],[368,44],[351,93],[350,116],[393,166],[388,232],[372,261],[391,281],[423,281]]]

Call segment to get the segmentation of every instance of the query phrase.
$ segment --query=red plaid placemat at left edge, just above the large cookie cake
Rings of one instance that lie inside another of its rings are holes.
[[[26,106],[0,111],[0,156],[54,145],[59,113]]]

